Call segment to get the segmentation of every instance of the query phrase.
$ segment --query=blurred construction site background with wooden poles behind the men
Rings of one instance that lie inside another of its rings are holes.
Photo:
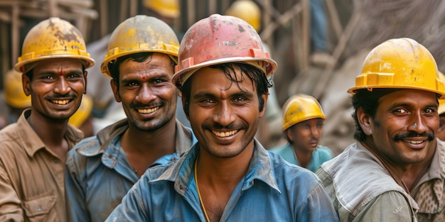
[[[224,14],[233,1],[181,0],[181,16],[174,28],[186,32],[201,18]],[[445,1],[324,0],[332,58],[324,66],[313,65],[309,59],[309,1],[255,0],[262,10],[259,33],[279,65],[273,76],[279,105],[296,93],[318,99],[326,114],[321,145],[338,154],[353,142],[355,128],[346,90],[353,86],[370,49],[390,38],[413,38],[430,50],[439,70],[445,71]],[[87,44],[102,40],[106,45],[104,36],[126,18],[141,13],[143,7],[141,0],[0,0],[0,74],[11,70],[24,36],[45,18],[59,16],[77,26]],[[100,65],[103,57],[96,48],[87,50],[95,58],[95,66]],[[93,70],[89,70],[89,78],[102,75]],[[102,82],[109,87],[108,81]],[[95,98],[94,92],[88,93]]]

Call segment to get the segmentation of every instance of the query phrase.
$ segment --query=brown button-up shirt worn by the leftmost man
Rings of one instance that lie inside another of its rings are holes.
[[[45,148],[23,111],[0,131],[0,221],[66,221],[65,163]],[[73,148],[83,134],[68,126]]]

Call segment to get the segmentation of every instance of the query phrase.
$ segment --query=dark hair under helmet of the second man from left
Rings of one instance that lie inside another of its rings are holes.
[[[137,52],[129,55],[124,55],[122,57],[118,57],[114,62],[108,63],[109,74],[113,78],[113,82],[117,85],[117,89],[119,89],[119,66],[122,62],[126,60],[132,60],[134,62],[145,62],[149,57],[153,56],[154,52]],[[150,62],[150,61],[148,61]],[[175,62],[171,60],[171,69],[174,72]]]

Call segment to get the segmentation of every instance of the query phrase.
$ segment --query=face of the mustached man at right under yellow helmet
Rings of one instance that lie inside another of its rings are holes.
[[[439,128],[436,94],[402,89],[379,100],[370,131],[377,155],[392,165],[421,162]],[[366,131],[365,131],[366,132]]]

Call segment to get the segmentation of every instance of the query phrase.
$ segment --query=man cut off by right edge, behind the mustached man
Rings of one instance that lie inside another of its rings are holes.
[[[441,80],[445,76],[440,72]],[[445,221],[445,99],[439,99],[439,129],[435,149],[422,162],[412,165],[404,174],[411,196],[419,205],[418,221]]]

